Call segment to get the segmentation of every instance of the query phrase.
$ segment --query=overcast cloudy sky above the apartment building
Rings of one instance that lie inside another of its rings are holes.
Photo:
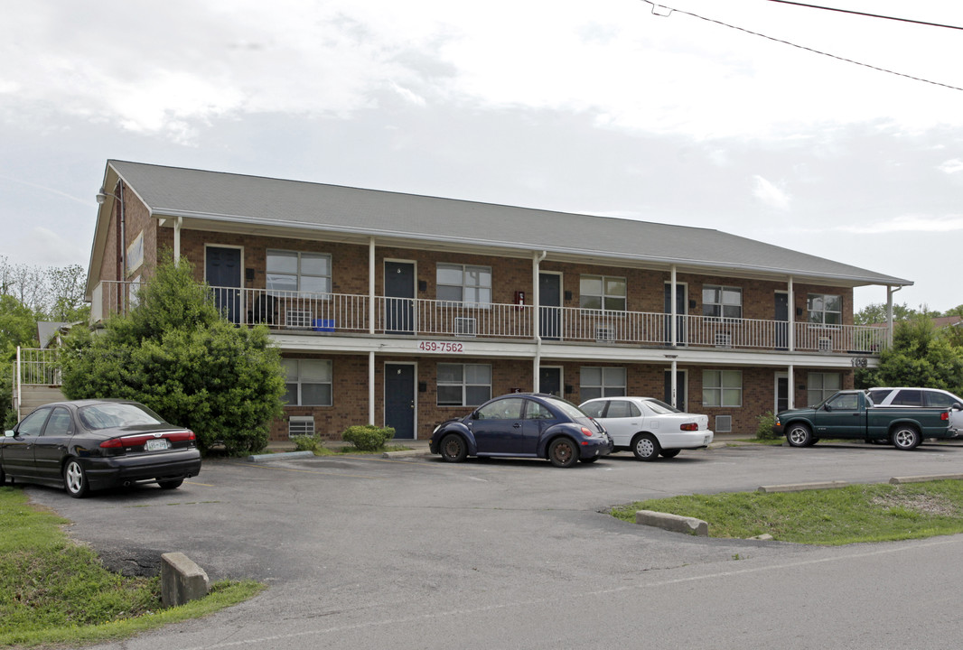
[[[960,30],[771,0],[0,0],[0,256],[86,268],[116,158],[716,228],[942,311],[961,62]]]

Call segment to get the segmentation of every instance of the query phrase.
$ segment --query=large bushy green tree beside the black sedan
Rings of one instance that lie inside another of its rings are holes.
[[[74,327],[65,339],[64,393],[70,399],[124,398],[193,429],[198,447],[262,450],[282,413],[280,352],[266,325],[236,327],[221,317],[190,263],[162,263],[128,315],[103,333]]]

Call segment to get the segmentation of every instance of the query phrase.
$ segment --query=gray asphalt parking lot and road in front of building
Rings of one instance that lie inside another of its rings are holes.
[[[959,443],[820,443],[653,463],[619,454],[567,470],[437,456],[216,460],[173,492],[28,491],[117,569],[149,572],[181,551],[214,580],[270,587],[102,648],[611,648],[642,637],[665,648],[949,648],[963,632],[961,535],[826,549],[667,533],[605,510],[777,482],[961,472]]]

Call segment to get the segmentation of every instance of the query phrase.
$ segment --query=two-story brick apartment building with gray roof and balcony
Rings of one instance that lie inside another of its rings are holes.
[[[272,438],[352,424],[399,437],[513,390],[664,398],[718,431],[852,384],[885,327],[854,287],[907,280],[724,232],[109,161],[91,250],[94,320],[161,251],[284,357]]]

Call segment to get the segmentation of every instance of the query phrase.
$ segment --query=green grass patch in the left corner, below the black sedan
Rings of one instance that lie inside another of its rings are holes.
[[[205,598],[163,609],[159,578],[108,571],[67,538],[64,518],[0,487],[0,647],[77,645],[130,637],[240,603],[263,585],[221,582]]]

